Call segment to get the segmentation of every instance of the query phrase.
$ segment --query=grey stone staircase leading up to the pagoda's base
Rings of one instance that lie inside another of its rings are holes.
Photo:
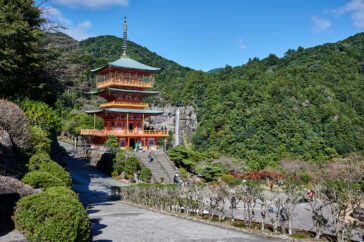
[[[148,162],[148,154],[152,153],[153,161]],[[168,156],[159,150],[153,150],[148,152],[136,152],[135,157],[138,158],[143,167],[147,167],[152,172],[152,178],[156,182],[160,182],[161,178],[164,178],[166,184],[173,183],[173,177],[178,171],[172,161],[169,160]]]

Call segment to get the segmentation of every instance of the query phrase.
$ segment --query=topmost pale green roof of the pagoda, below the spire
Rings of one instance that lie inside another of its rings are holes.
[[[156,72],[156,73],[161,71],[161,68],[147,66],[147,65],[140,63],[136,60],[133,60],[129,57],[121,57],[120,59],[118,59],[116,61],[107,63],[107,65],[105,65],[103,67],[93,69],[93,70],[91,70],[91,72],[97,73],[108,67],[127,69],[127,70],[136,70],[136,71]]]

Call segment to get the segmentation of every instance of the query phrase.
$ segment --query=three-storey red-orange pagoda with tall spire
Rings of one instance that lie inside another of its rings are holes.
[[[118,138],[119,147],[157,149],[157,139],[168,137],[167,130],[154,130],[144,125],[144,119],[160,115],[163,111],[148,110],[143,103],[145,97],[157,95],[158,91],[148,91],[153,87],[154,73],[160,68],[144,65],[129,58],[126,54],[126,19],[124,19],[123,55],[106,66],[92,70],[96,75],[98,91],[89,92],[106,99],[101,109],[85,111],[94,115],[94,129],[82,129],[92,148],[103,148],[109,135]],[[96,116],[104,119],[104,129],[97,130]]]

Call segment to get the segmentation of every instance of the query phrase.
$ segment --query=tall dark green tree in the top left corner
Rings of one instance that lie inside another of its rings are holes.
[[[49,94],[41,50],[45,21],[32,0],[0,1],[1,97],[40,99]]]

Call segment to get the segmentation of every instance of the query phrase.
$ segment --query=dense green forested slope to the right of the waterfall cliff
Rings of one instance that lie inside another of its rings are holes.
[[[283,157],[363,154],[363,43],[360,33],[216,75],[189,73],[182,97],[199,105],[196,148],[238,156],[253,169]]]

